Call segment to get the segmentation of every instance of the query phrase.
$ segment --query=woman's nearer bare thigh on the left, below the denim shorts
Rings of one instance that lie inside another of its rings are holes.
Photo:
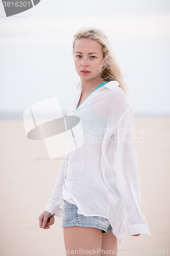
[[[101,255],[102,230],[94,227],[63,227],[68,254]],[[71,253],[72,250],[72,253]]]

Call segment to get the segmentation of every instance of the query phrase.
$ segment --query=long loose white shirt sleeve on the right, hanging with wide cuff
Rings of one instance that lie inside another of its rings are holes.
[[[147,219],[140,210],[140,178],[134,143],[134,114],[129,103],[116,125],[114,139],[117,153],[116,179],[127,211],[126,225],[129,235],[145,233],[151,236]]]

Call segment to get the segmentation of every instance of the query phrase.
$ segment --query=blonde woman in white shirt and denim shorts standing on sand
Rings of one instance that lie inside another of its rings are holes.
[[[84,143],[64,156],[39,225],[50,228],[63,214],[68,254],[116,254],[127,232],[151,236],[140,210],[134,115],[103,31],[79,30],[72,53],[81,83],[67,115],[80,117]]]

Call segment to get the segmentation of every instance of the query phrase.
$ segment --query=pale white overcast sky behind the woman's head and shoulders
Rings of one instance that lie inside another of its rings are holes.
[[[82,26],[108,37],[134,115],[169,115],[168,0],[41,0],[10,17],[0,3],[0,118],[56,96],[67,114],[79,93],[71,47]]]

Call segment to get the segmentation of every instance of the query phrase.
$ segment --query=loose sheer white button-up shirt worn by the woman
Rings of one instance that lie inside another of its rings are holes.
[[[78,107],[80,93],[68,114],[80,117],[84,143],[66,154],[45,210],[61,217],[63,199],[78,214],[102,216],[122,243],[129,235],[151,236],[140,209],[140,178],[134,143],[134,114],[118,81],[92,92]]]

